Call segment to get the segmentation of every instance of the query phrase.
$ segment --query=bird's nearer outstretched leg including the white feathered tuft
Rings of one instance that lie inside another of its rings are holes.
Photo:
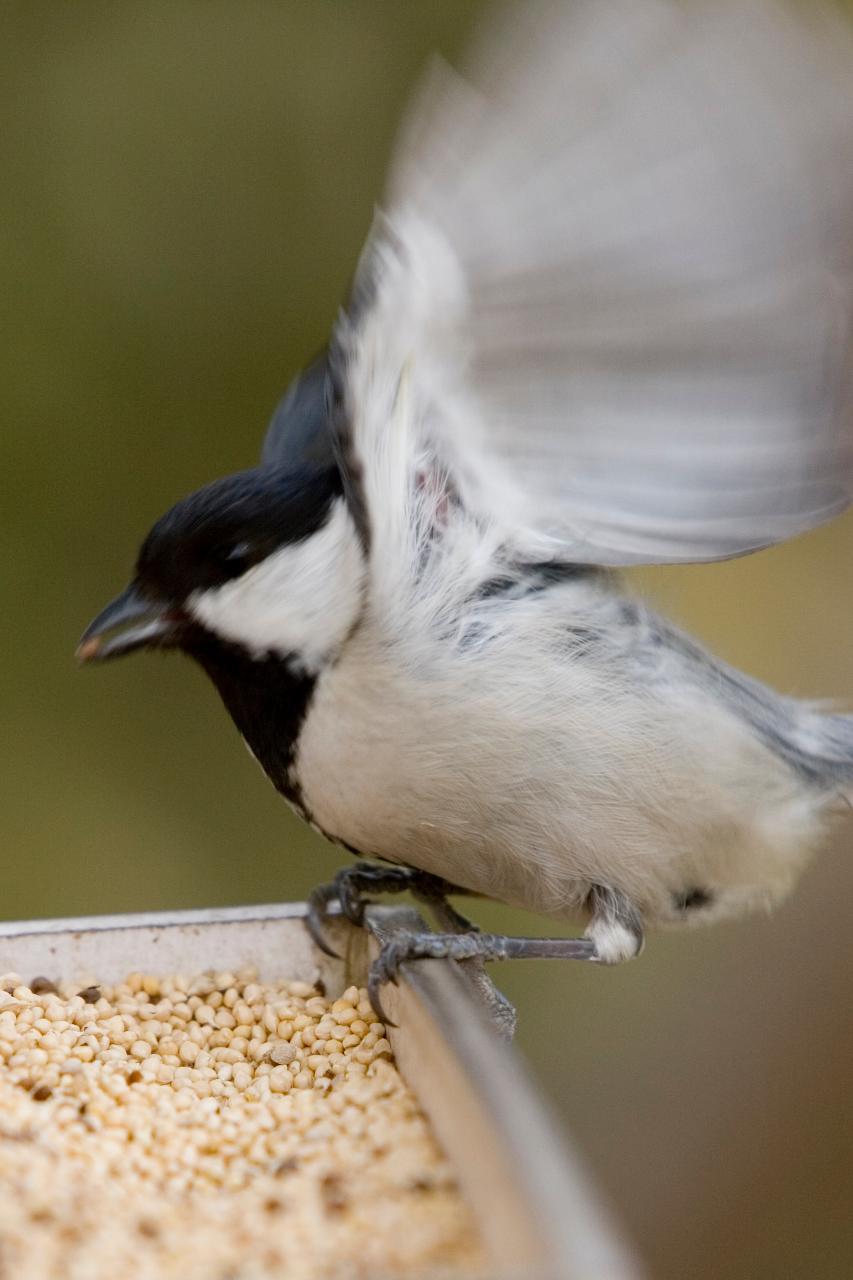
[[[639,913],[619,890],[593,886],[587,905],[592,919],[583,938],[517,938],[500,933],[409,933],[387,942],[368,979],[370,1002],[388,1021],[379,989],[396,982],[400,965],[409,960],[592,960],[617,964],[638,955],[643,946]]]

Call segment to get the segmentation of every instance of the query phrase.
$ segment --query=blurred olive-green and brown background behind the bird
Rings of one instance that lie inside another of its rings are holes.
[[[407,90],[478,8],[0,8],[5,918],[297,899],[339,864],[200,672],[72,653],[150,522],[254,461],[346,293]],[[747,671],[849,698],[852,553],[847,518],[642,589]],[[498,974],[654,1276],[850,1275],[852,844],[772,920]]]

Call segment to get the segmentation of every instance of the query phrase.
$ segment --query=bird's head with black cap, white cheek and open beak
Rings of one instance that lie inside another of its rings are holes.
[[[178,502],[124,591],[82,636],[83,662],[210,640],[316,672],[355,626],[364,553],[334,467],[257,467]]]

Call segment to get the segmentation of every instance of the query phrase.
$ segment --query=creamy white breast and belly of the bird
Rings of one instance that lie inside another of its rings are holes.
[[[328,832],[487,896],[573,914],[592,883],[649,922],[767,905],[815,842],[815,799],[699,692],[663,701],[542,645],[540,622],[420,671],[368,631],[320,676],[297,773]],[[539,632],[537,632],[537,626]],[[421,655],[423,658],[423,655]],[[667,695],[669,696],[669,695]]]

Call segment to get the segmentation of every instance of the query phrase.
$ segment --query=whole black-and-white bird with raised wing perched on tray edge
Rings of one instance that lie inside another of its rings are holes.
[[[853,41],[829,4],[494,6],[414,96],[325,349],[260,462],[178,502],[85,632],[179,650],[356,855],[311,897],[462,893],[617,964],[781,901],[853,716],[717,660],[620,570],[757,552],[853,485]],[[444,919],[448,919],[447,910]]]

